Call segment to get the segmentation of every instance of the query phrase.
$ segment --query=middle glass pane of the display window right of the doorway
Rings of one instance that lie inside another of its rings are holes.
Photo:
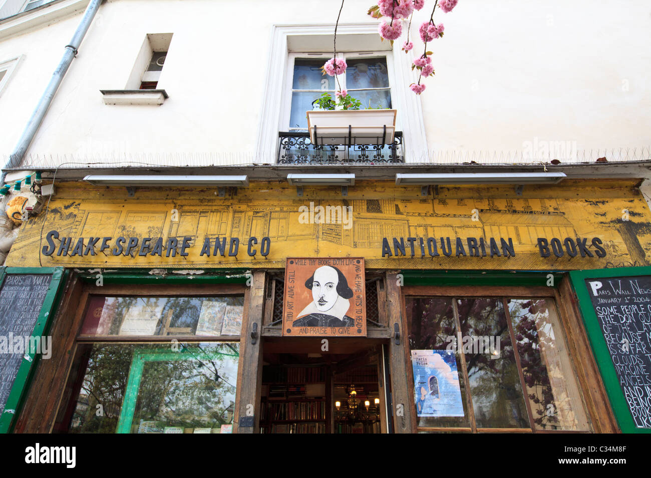
[[[477,428],[529,428],[502,300],[457,304]]]

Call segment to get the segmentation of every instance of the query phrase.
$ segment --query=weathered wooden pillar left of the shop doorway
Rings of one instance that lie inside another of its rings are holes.
[[[253,271],[247,290],[248,308],[240,332],[240,362],[235,397],[234,433],[260,432],[260,390],[262,388],[262,319],[264,313],[264,271]],[[257,325],[255,343],[251,331]],[[251,412],[253,411],[253,415]]]

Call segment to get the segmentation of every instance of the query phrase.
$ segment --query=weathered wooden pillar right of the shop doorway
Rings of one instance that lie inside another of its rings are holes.
[[[391,373],[391,399],[393,412],[393,430],[396,433],[414,433],[413,428],[413,382],[409,384],[408,377],[411,377],[408,367],[411,367],[409,356],[409,341],[407,336],[407,323],[402,316],[402,300],[400,298],[400,286],[398,285],[397,273],[387,271],[387,320],[391,341],[389,341],[389,368]],[[396,344],[396,325],[400,338]]]

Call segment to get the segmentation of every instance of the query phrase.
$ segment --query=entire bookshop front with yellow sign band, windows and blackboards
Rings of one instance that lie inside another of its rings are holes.
[[[44,338],[2,431],[651,429],[638,182],[63,182],[0,275]]]

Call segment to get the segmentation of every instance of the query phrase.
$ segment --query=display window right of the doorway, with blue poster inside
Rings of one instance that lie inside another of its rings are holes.
[[[419,432],[590,431],[553,293],[411,287],[404,306]]]

